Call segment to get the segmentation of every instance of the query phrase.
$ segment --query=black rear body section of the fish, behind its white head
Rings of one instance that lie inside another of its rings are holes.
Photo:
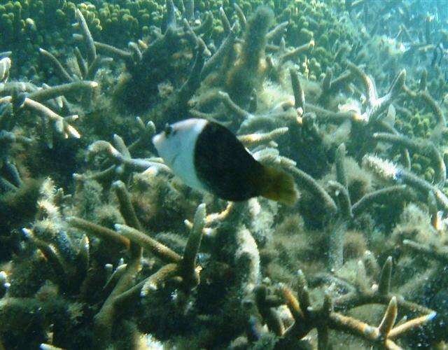
[[[254,180],[262,176],[263,167],[226,127],[207,122],[197,137],[194,162],[198,179],[223,200],[260,195]]]

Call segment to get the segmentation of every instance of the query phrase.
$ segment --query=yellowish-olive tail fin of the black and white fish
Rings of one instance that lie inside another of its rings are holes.
[[[293,206],[297,202],[298,193],[293,176],[274,167],[263,166],[263,174],[258,179],[260,195]]]

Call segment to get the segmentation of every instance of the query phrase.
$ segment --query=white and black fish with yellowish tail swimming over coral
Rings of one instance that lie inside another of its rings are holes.
[[[227,127],[190,118],[167,124],[153,145],[165,164],[187,186],[232,202],[252,197],[293,206],[297,190],[293,176],[262,165]]]

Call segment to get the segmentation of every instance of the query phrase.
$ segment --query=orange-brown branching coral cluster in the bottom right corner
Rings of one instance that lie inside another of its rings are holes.
[[[293,344],[297,344],[296,339],[305,337],[313,328],[317,328],[319,349],[328,349],[328,346],[330,346],[329,330],[341,330],[342,332],[361,337],[373,344],[382,345],[386,349],[397,349],[398,346],[395,344],[394,338],[400,337],[403,333],[409,332],[414,328],[421,327],[428,321],[432,321],[436,314],[429,309],[419,307],[419,305],[407,303],[395,295],[388,295],[391,283],[391,261],[391,258],[386,260],[386,264],[381,271],[379,284],[374,286],[375,291],[372,292],[367,289],[365,276],[363,276],[364,267],[360,263],[360,267],[358,267],[358,274],[360,275],[357,279],[359,283],[358,292],[343,295],[336,300],[332,300],[330,293],[325,292],[321,307],[311,307],[307,281],[301,270],[299,270],[297,276],[298,300],[293,292],[284,285],[279,286],[279,291],[283,296],[281,298],[267,295],[266,287],[261,286],[258,288],[256,300],[263,320],[267,323],[270,330],[281,337],[276,346],[279,349],[283,346],[294,346]],[[288,306],[294,321],[288,328],[285,328],[283,321],[275,311],[275,308],[279,307],[283,302]],[[378,327],[373,327],[358,321],[356,318],[344,316],[335,311],[372,302],[388,304]],[[400,304],[402,307],[407,307],[412,311],[419,310],[427,314],[394,327]]]

